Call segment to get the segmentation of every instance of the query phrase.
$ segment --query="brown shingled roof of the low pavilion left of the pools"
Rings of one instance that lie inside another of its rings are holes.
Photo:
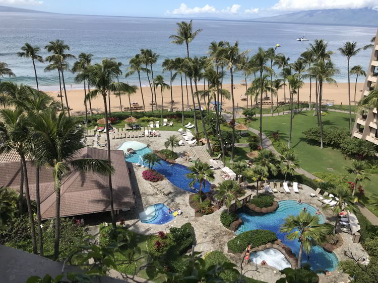
[[[77,158],[107,159],[107,151],[84,147]],[[130,210],[135,207],[134,192],[128,164],[122,150],[111,150],[114,167],[112,174],[114,210]],[[36,197],[36,168],[27,161],[30,198]],[[20,191],[20,156],[15,151],[0,155],[0,187],[8,186]],[[40,168],[40,200],[42,219],[55,217],[55,191],[52,168]],[[25,188],[24,188],[25,193]],[[62,180],[60,188],[60,216],[78,216],[110,211],[108,176],[94,172],[71,171]]]

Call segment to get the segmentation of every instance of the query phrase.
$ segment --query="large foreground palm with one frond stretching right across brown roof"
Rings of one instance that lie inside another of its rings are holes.
[[[56,115],[50,110],[36,116],[32,121],[32,150],[39,166],[53,168],[55,188],[55,241],[54,259],[59,256],[60,239],[60,186],[63,177],[70,171],[93,171],[99,174],[111,174],[114,169],[109,160],[94,158],[73,159],[83,147],[81,139],[84,129],[77,127],[74,118],[67,117],[65,112]],[[109,183],[110,185],[110,183]]]

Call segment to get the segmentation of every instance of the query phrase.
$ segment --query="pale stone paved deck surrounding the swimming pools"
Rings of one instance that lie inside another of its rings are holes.
[[[161,128],[160,128],[161,129]],[[138,139],[121,139],[121,140],[111,140],[111,148],[116,149],[119,147],[123,142],[136,140],[145,144],[150,144],[152,149],[164,149],[164,142],[168,136],[176,135],[177,137],[181,138],[180,133],[175,133],[172,131],[162,131],[160,130],[160,137],[148,137],[148,138],[138,138]],[[174,149],[174,151],[178,154],[178,158],[176,159],[177,163],[190,166],[191,162],[188,162],[184,158],[184,153],[191,148],[188,145],[180,146]],[[232,260],[235,264],[237,264],[239,271],[241,271],[244,275],[263,280],[266,282],[275,282],[277,279],[281,277],[280,272],[273,267],[267,266],[256,266],[254,264],[242,265],[240,268],[241,258],[237,258],[233,254],[226,253],[227,251],[227,242],[234,237],[234,233],[230,230],[223,227],[220,223],[219,218],[221,212],[225,209],[222,208],[218,211],[215,211],[211,215],[204,215],[201,218],[195,217],[195,211],[188,205],[189,196],[191,193],[185,192],[176,188],[172,185],[166,178],[162,181],[165,186],[170,186],[172,188],[172,194],[168,197],[161,197],[153,192],[149,188],[148,181],[144,180],[142,177],[142,171],[145,168],[138,167],[133,165],[131,169],[131,181],[133,184],[133,188],[136,194],[136,208],[131,212],[124,212],[120,216],[125,218],[125,223],[130,225],[130,230],[140,234],[156,234],[159,231],[169,231],[170,227],[179,227],[186,222],[191,222],[195,229],[196,233],[196,251],[202,251],[203,253],[213,251],[213,250],[220,250],[224,252],[230,260]],[[212,183],[218,184],[219,182],[223,181],[221,178],[221,170],[215,170],[215,180]],[[282,181],[282,180],[281,180]],[[269,182],[269,181],[268,181]],[[308,203],[312,206],[321,208],[321,203],[317,200],[317,198],[311,198],[309,196],[310,193],[314,191],[312,188],[302,185],[303,189],[299,190],[299,194],[294,194],[291,190],[291,194],[273,194],[276,201],[280,200],[299,200],[301,199],[302,202]],[[247,194],[256,194],[256,191],[249,191],[247,190]],[[144,224],[141,223],[138,216],[139,213],[144,210],[145,207],[156,204],[156,203],[163,203],[167,207],[171,208],[180,208],[182,211],[181,216],[177,216],[174,218],[173,221],[168,222],[164,225],[153,225],[153,224]],[[323,212],[324,217],[327,219],[328,222],[334,224],[335,218],[330,213],[330,211]],[[352,243],[352,236],[342,233],[341,234],[344,244],[342,247],[336,249],[334,252],[337,255],[339,261],[347,259],[344,255],[344,250],[351,248],[353,253],[357,254],[358,256],[365,256],[367,257],[366,252],[362,249],[360,244]],[[341,281],[348,281],[348,274],[343,274],[339,271],[332,272],[331,276],[324,276],[323,274],[319,274],[321,282],[341,282]]]

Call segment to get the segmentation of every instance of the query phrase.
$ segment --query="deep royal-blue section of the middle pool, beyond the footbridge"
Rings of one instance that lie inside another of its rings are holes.
[[[195,190],[193,190],[193,188],[189,186],[191,179],[186,178],[186,174],[190,173],[191,171],[184,165],[178,163],[170,164],[165,160],[161,160],[161,164],[154,165],[154,170],[166,176],[172,184],[174,184],[178,188],[181,188],[181,190],[185,190],[191,193],[196,193],[198,192],[198,190],[200,190],[200,183],[198,182],[194,184]],[[205,180],[205,185],[202,183],[202,192],[207,193],[209,191],[210,183]]]

